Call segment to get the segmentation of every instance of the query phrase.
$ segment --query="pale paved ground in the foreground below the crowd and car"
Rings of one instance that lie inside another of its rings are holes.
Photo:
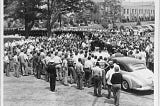
[[[93,88],[80,91],[76,85],[57,83],[56,92],[50,92],[49,83],[34,76],[4,77],[4,106],[114,106],[113,98],[94,97]],[[120,106],[153,106],[154,95],[146,92],[121,92]]]

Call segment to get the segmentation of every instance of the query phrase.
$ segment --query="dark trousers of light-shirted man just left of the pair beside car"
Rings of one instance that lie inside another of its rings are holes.
[[[102,89],[101,88],[102,86],[101,77],[94,76],[93,78],[94,78],[94,95],[101,96],[101,89]]]

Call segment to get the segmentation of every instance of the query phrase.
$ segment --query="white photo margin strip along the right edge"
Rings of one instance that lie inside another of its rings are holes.
[[[159,83],[160,83],[160,72],[159,72],[159,54],[160,49],[158,45],[160,44],[158,41],[160,40],[160,2],[159,0],[155,0],[155,37],[154,37],[154,106],[160,106],[160,88],[159,88]]]

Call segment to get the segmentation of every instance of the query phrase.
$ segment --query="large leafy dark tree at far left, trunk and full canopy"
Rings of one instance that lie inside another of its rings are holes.
[[[25,36],[28,37],[35,20],[41,19],[43,10],[39,8],[42,0],[7,0],[5,12],[10,12],[10,17],[22,19],[25,22]],[[13,5],[14,4],[14,5]],[[10,7],[12,6],[12,8]]]

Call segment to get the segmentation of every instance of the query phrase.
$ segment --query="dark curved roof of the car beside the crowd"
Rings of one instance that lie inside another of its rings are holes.
[[[133,57],[114,57],[113,59],[117,60],[123,64],[136,64],[136,63],[144,63],[143,61],[133,58]]]

